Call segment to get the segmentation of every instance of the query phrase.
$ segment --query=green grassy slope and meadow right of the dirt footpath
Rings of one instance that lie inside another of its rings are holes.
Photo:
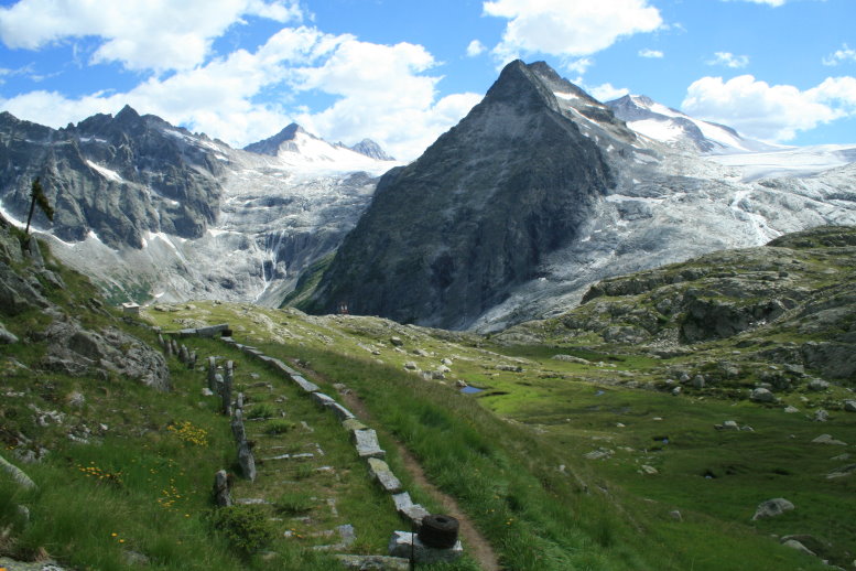
[[[823,432],[856,442],[856,419],[843,412],[817,424],[781,409],[622,385],[621,371],[657,375],[662,363],[646,356],[489,346],[475,336],[373,317],[247,310],[197,303],[151,315],[163,325],[229,322],[238,338],[267,343],[268,353],[301,358],[356,390],[383,431],[460,500],[509,569],[821,568],[770,534],[827,539],[833,546],[824,549],[838,561],[856,548],[847,516],[852,477],[825,478],[846,463],[830,460],[844,450],[810,443]],[[603,359],[604,366],[550,359],[555,353]],[[433,370],[444,357],[453,360],[446,381],[403,368],[414,362]],[[522,371],[507,370],[514,367]],[[463,396],[451,386],[457,378],[485,391]],[[714,430],[732,419],[755,432]],[[658,435],[670,443],[654,442]],[[599,446],[615,453],[583,459]],[[659,474],[640,474],[641,464]],[[716,477],[705,478],[707,471]],[[750,521],[760,502],[778,496],[798,509]],[[669,515],[674,509],[682,522]]]

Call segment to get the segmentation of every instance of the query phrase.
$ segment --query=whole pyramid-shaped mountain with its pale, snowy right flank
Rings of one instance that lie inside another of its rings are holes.
[[[565,311],[603,278],[856,224],[856,165],[749,184],[695,151],[765,143],[681,115],[639,98],[609,107],[543,62],[509,64],[456,127],[381,179],[299,306],[345,301],[351,313],[495,331]],[[667,142],[680,152],[639,134],[640,121],[676,129]]]

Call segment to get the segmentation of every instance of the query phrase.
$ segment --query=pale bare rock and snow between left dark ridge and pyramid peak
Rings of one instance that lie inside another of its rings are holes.
[[[300,128],[266,154],[165,131],[189,147],[207,149],[226,166],[219,215],[205,235],[185,239],[149,233],[141,249],[112,249],[93,236],[65,243],[48,235],[61,259],[96,281],[119,290],[149,288],[162,302],[220,299],[278,305],[300,272],[333,252],[354,227],[377,177],[400,164],[331,144]],[[110,169],[87,164],[108,180],[129,184]],[[144,191],[177,205],[152,188]]]

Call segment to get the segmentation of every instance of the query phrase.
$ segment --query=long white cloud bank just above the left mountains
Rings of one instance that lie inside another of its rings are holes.
[[[378,141],[402,160],[418,157],[455,125],[481,96],[437,99],[441,76],[422,46],[359,42],[351,35],[311,28],[285,28],[256,52],[238,50],[167,78],[150,77],[126,93],[68,98],[31,91],[0,98],[0,109],[52,127],[96,112],[115,114],[126,104],[175,125],[242,147],[296,120],[332,141]],[[295,94],[317,90],[336,97],[326,109],[295,108]],[[261,103],[261,95],[279,99]]]

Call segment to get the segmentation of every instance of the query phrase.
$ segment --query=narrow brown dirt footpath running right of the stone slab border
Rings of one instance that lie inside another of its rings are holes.
[[[318,378],[324,378],[322,375],[318,375],[315,371],[313,371],[313,374]],[[366,405],[359,399],[359,397],[357,397],[351,390],[342,390],[339,391],[339,395],[342,396],[342,400],[344,401],[345,407],[351,410],[357,416],[357,418],[367,423],[371,422],[372,416],[366,408]],[[494,548],[490,547],[490,543],[487,541],[487,539],[485,539],[485,536],[483,536],[479,530],[476,529],[469,517],[467,517],[467,515],[457,505],[455,498],[441,491],[437,486],[427,480],[425,476],[425,471],[422,470],[422,466],[416,461],[415,456],[413,456],[413,454],[401,442],[394,438],[392,438],[392,442],[396,445],[396,450],[401,456],[401,460],[404,462],[404,468],[411,475],[416,485],[427,492],[432,498],[434,498],[441,506],[443,506],[446,515],[449,515],[458,520],[459,535],[464,540],[464,543],[466,543],[467,550],[473,556],[473,558],[478,561],[478,564],[483,571],[501,571],[502,568],[499,565],[499,558],[497,558],[497,554],[494,552]]]

